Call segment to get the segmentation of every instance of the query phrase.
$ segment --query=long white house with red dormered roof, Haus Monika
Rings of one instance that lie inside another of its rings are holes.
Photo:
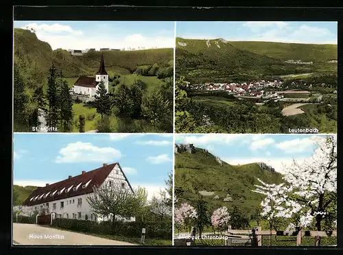
[[[46,184],[45,187],[38,187],[24,201],[23,205],[28,206],[30,213],[47,208],[48,213],[55,213],[57,218],[67,219],[88,219],[91,221],[106,221],[112,219],[110,215],[95,215],[89,206],[86,197],[94,193],[95,186],[113,186],[121,182],[121,189],[134,192],[128,178],[119,163],[107,165],[92,171],[82,171],[80,175],[71,176],[60,182]],[[124,219],[118,216],[117,219],[134,221],[134,217]]]

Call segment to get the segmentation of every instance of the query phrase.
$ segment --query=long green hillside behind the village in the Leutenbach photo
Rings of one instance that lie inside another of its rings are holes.
[[[176,38],[176,75],[193,83],[257,80],[317,70],[335,71],[337,45],[278,42],[228,42]],[[285,60],[313,61],[290,64]]]

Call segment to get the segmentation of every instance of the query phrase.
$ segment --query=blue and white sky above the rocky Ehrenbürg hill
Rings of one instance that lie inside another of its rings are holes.
[[[313,138],[324,135],[278,134],[176,134],[176,143],[191,143],[207,149],[230,165],[265,162],[283,173],[293,160],[303,162],[318,147]]]

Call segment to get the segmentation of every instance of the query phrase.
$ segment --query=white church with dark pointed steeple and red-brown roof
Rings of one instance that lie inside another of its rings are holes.
[[[78,80],[76,80],[73,88],[71,88],[71,91],[75,95],[94,97],[96,95],[97,88],[99,87],[99,83],[104,82],[105,88],[108,93],[108,76],[109,75],[105,70],[104,53],[102,53],[99,71],[97,71],[95,77],[80,76]]]

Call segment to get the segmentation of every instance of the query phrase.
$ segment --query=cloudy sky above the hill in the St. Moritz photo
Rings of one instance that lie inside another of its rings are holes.
[[[14,21],[33,28],[52,49],[172,48],[174,21]]]

